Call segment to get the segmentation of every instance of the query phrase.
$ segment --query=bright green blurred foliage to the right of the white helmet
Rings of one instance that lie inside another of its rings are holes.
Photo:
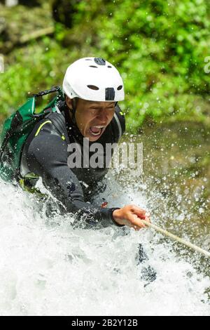
[[[101,47],[121,68],[127,92],[128,124],[155,120],[204,119],[199,100],[207,99],[210,49],[209,3],[193,1],[115,2],[104,20]],[[201,105],[203,102],[201,103]]]

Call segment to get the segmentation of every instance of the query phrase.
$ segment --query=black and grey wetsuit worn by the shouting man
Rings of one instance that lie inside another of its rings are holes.
[[[97,143],[101,143],[106,150],[106,143],[118,143],[124,131],[125,117],[116,105],[115,115]],[[83,136],[73,124],[66,103],[61,102],[57,105],[57,112],[48,114],[36,124],[27,138],[20,166],[22,176],[35,173],[41,177],[43,185],[59,201],[60,211],[74,213],[86,227],[116,224],[112,214],[117,208],[102,208],[91,202],[92,197],[103,188],[102,179],[108,169],[84,168],[83,164],[80,169],[70,169],[68,157],[71,152],[67,148],[71,143],[79,143],[84,156]]]

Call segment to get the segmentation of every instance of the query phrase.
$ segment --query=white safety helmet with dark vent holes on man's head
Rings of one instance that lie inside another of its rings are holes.
[[[124,100],[123,79],[103,58],[80,58],[66,70],[63,91],[69,98],[90,101]]]

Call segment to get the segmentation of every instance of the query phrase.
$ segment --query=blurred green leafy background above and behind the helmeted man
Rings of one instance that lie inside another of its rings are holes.
[[[157,121],[210,126],[209,0],[11,2],[0,1],[0,121],[92,55],[123,76],[127,131]]]

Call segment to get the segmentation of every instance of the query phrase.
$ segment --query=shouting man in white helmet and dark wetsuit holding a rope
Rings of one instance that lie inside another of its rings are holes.
[[[141,219],[150,219],[139,206],[102,208],[90,203],[99,192],[106,166],[73,168],[68,164],[72,144],[80,145],[84,158],[84,138],[89,139],[90,147],[96,141],[105,147],[118,143],[124,133],[125,118],[117,105],[124,100],[118,70],[102,58],[81,58],[66,70],[63,92],[65,100],[57,104],[57,113],[39,121],[27,138],[20,173],[40,176],[59,201],[59,209],[74,213],[85,227],[115,224],[140,230],[145,227]]]

